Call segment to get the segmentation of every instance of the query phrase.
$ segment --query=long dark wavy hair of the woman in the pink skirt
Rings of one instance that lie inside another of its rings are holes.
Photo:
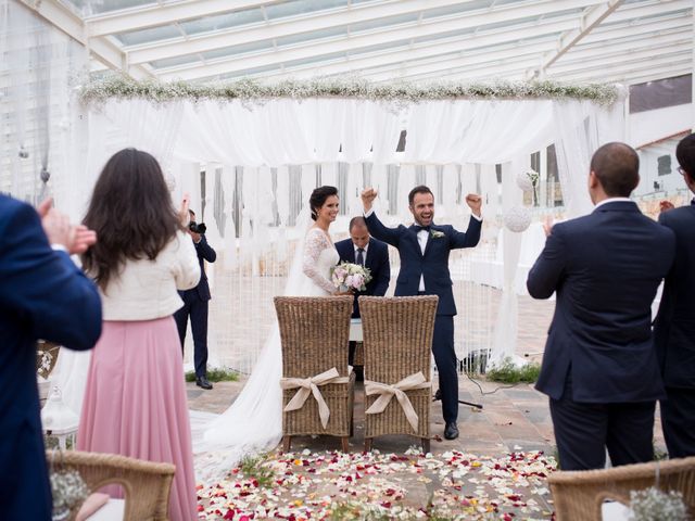
[[[83,224],[97,232],[83,267],[104,292],[127,259],[156,258],[181,229],[160,164],[136,149],[104,165]]]

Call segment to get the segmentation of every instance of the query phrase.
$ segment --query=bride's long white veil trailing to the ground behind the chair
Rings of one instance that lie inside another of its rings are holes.
[[[285,285],[285,295],[303,294],[306,277],[302,256],[308,209],[296,220],[299,241]],[[205,482],[223,479],[244,456],[275,448],[282,437],[282,354],[277,322],[274,322],[256,365],[235,403],[201,428],[193,428],[195,472]]]

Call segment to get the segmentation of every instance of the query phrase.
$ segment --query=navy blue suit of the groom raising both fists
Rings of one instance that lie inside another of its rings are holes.
[[[439,296],[432,353],[439,371],[444,421],[458,418],[458,374],[454,352],[454,315],[456,304],[448,272],[448,254],[459,247],[472,247],[480,240],[481,221],[471,217],[466,232],[456,231],[450,225],[432,225],[425,253],[417,240],[419,227],[387,228],[375,213],[366,217],[367,229],[376,239],[399,250],[401,270],[396,279],[394,296],[419,294],[420,277],[425,279],[425,294]],[[438,236],[438,237],[435,237]]]

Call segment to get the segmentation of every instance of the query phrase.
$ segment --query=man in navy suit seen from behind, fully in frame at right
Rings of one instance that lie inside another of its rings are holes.
[[[557,295],[535,387],[549,396],[563,470],[654,459],[656,401],[664,385],[652,338],[652,302],[675,239],[629,196],[640,160],[623,143],[591,160],[590,215],[555,225],[527,287]]]

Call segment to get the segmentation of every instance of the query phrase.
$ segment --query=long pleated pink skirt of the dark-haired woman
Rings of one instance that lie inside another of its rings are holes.
[[[169,517],[198,518],[181,344],[173,317],[104,321],[89,366],[77,449],[174,463]]]

